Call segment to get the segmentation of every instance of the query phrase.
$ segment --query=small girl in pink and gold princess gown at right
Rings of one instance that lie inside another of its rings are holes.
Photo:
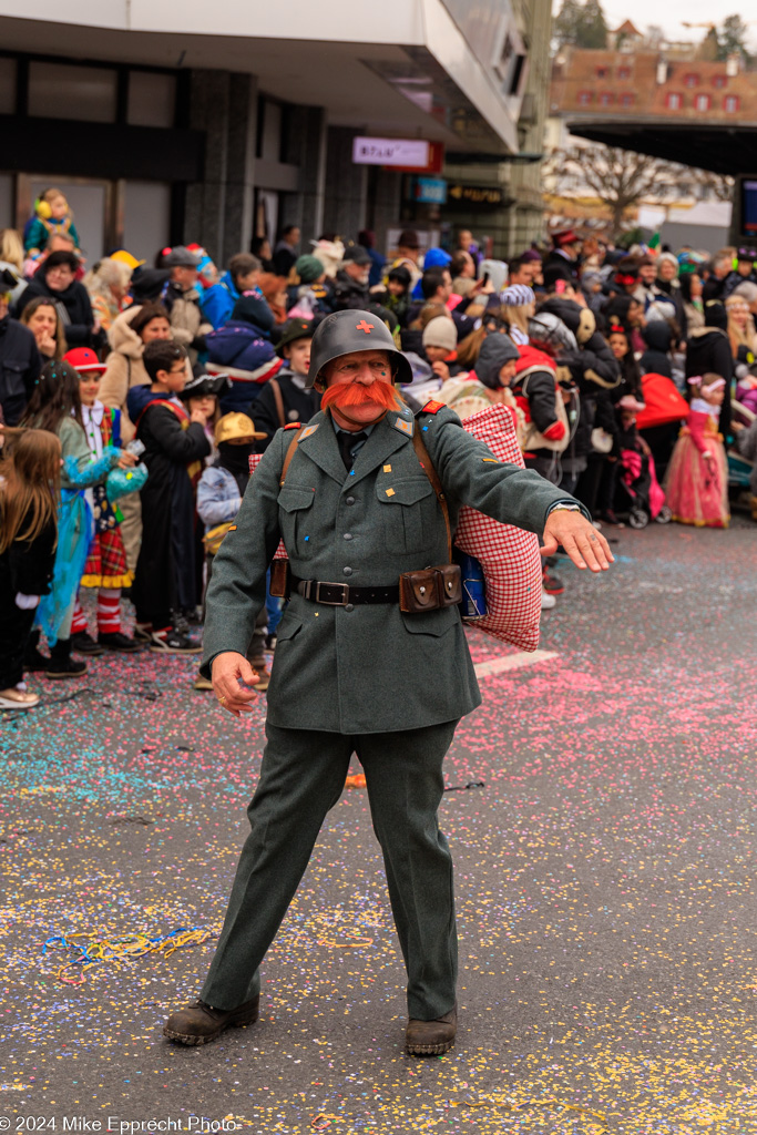
[[[707,373],[689,379],[691,412],[667,468],[665,496],[680,524],[727,528],[727,462],[717,421],[725,379]]]

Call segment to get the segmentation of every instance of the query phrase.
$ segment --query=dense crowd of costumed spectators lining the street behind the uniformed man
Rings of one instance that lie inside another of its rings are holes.
[[[67,678],[85,670],[73,654],[196,653],[190,628],[256,455],[319,409],[305,384],[310,342],[334,311],[387,325],[411,364],[402,393],[413,409],[435,398],[465,418],[508,405],[527,466],[574,494],[598,527],[727,523],[713,439],[757,449],[755,250],[617,250],[566,230],[504,263],[483,258],[468,230],[455,247],[422,253],[406,229],[387,258],[370,232],[325,233],[301,251],[287,226],[272,249],[258,238],[222,272],[196,245],[161,250],[152,266],[115,250],[85,272],[65,197],[47,196],[25,234],[0,233],[6,435],[19,423],[56,435],[69,537],[50,563],[54,603],[27,596],[52,647],[42,655],[33,632],[27,667]],[[703,485],[716,485],[704,519],[684,515],[680,487],[666,482],[682,428]],[[545,607],[563,590],[552,566]],[[96,633],[79,583],[99,588]],[[113,614],[115,592],[134,603],[134,637]],[[261,689],[278,617],[269,598],[251,645]],[[22,687],[17,662],[6,665],[0,700],[33,697]]]

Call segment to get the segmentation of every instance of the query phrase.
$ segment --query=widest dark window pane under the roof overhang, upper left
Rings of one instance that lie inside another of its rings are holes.
[[[116,70],[104,67],[32,62],[28,112],[35,118],[115,123],[116,79]]]

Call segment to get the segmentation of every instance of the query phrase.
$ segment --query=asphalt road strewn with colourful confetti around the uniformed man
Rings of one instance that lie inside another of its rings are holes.
[[[0,1132],[754,1135],[755,529],[615,536],[607,577],[561,568],[546,656],[471,632],[485,703],[441,807],[461,939],[445,1057],[403,1053],[359,788],[266,960],[259,1024],[163,1040],[212,956],[264,699],[235,721],[192,690],[196,659],[142,654],[6,714]]]

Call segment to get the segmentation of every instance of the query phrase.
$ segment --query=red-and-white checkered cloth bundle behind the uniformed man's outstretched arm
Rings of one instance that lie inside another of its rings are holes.
[[[499,461],[523,466],[512,411],[493,405],[463,422]],[[536,650],[541,617],[541,556],[539,539],[510,524],[501,524],[474,508],[460,510],[455,544],[476,556],[486,579],[487,614],[474,627],[521,650]]]

